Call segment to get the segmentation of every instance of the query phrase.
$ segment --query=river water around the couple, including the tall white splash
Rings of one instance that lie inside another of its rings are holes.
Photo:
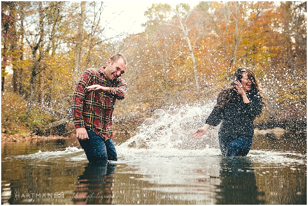
[[[306,133],[255,135],[247,157],[223,157],[217,128],[190,137],[212,106],[155,111],[107,165],[75,139],[2,143],[2,204],[306,205]]]

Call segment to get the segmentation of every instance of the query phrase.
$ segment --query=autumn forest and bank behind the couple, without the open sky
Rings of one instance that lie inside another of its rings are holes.
[[[213,103],[245,66],[267,105],[256,126],[306,131],[306,12],[307,2],[160,3],[144,13],[143,32],[106,38],[103,2],[2,1],[2,133],[69,134],[80,74],[119,52],[129,90],[115,130],[134,130],[156,109]]]

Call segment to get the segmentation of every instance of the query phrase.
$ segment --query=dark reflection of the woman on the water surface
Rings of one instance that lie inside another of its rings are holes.
[[[257,191],[253,164],[247,157],[221,159],[220,179],[216,204],[264,204]]]

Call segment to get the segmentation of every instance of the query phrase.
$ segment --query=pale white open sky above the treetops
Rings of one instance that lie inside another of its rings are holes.
[[[168,3],[173,8],[179,3],[188,3],[191,8],[198,4],[199,1],[160,1]],[[152,3],[160,3],[159,1],[106,1],[104,5],[104,18],[102,25],[111,27],[106,30],[106,37],[111,38],[120,32],[136,34],[143,31],[141,24],[147,19],[144,12],[152,6]]]

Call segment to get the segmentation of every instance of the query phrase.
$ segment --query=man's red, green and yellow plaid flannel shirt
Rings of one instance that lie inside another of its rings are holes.
[[[86,127],[104,139],[113,137],[112,113],[116,99],[124,99],[127,84],[122,78],[109,81],[104,75],[105,67],[90,68],[83,72],[71,98],[71,109],[75,128]],[[109,87],[111,93],[95,93],[86,87],[99,84]]]

